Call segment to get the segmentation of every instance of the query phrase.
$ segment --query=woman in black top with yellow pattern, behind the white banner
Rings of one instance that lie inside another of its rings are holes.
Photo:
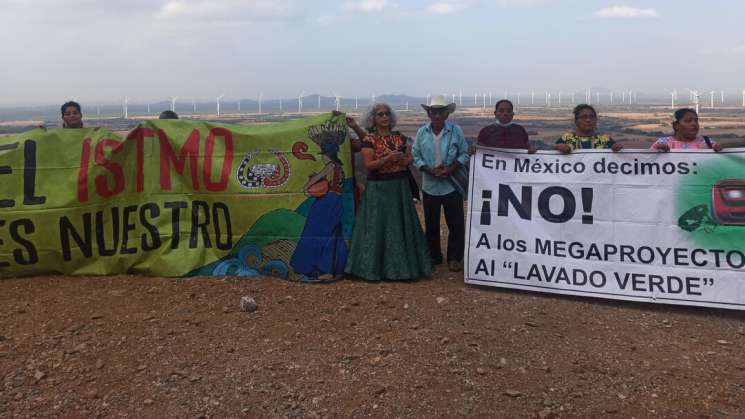
[[[623,146],[606,134],[596,132],[598,113],[590,105],[581,104],[574,108],[574,132],[566,133],[556,140],[554,149],[569,154],[578,149],[611,149],[620,151]]]

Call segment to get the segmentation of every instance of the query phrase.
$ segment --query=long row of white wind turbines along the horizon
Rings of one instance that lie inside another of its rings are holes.
[[[698,90],[693,89],[686,89],[688,91],[688,102],[686,104],[692,104],[692,106],[695,107],[696,112],[699,112],[701,108],[701,93]],[[543,100],[540,99],[541,93],[543,93]],[[607,104],[607,105],[634,105],[638,104],[638,96],[637,92],[634,92],[633,90],[621,90],[621,91],[592,91],[592,89],[588,88],[584,92],[584,102],[587,104]],[[714,91],[711,90],[708,92],[710,96],[709,101],[709,109],[715,109],[717,104],[715,103],[715,98],[719,98],[719,105],[724,106],[725,105],[725,92],[724,90],[720,91]],[[538,98],[536,97],[536,91],[535,89],[531,89],[530,92],[527,92],[523,94],[523,92],[508,92],[504,91],[503,95],[499,98],[492,92],[482,92],[482,93],[474,93],[473,95],[473,106],[474,107],[481,107],[482,110],[486,110],[487,108],[490,108],[494,102],[497,99],[510,99],[515,103],[516,107],[522,107],[522,106],[531,106],[531,107],[561,107],[561,106],[568,106],[568,105],[576,105],[577,104],[577,92],[551,92],[551,91],[543,91],[538,92]],[[463,92],[459,91],[457,94],[455,93],[442,93],[443,96],[446,98],[451,98],[453,103],[457,103],[459,106],[464,106],[464,100],[463,100]],[[221,102],[222,99],[225,97],[225,94],[220,94],[215,98],[215,111],[217,116],[221,116],[222,109],[221,109]],[[426,103],[430,102],[430,98],[432,97],[431,94],[427,94],[426,96]],[[337,111],[341,110],[341,102],[342,97],[336,93],[333,95],[334,98],[334,107]],[[488,98],[488,100],[487,100]],[[176,104],[177,100],[179,98],[177,96],[170,97],[170,105],[171,110],[176,111]],[[263,113],[262,105],[264,101],[264,95],[263,93],[259,93],[257,98],[258,103],[258,113]],[[297,112],[303,113],[304,110],[304,102],[306,99],[305,91],[300,92],[300,94],[297,96]],[[370,96],[370,103],[375,103],[376,95],[373,93]],[[538,100],[536,100],[538,99]],[[294,100],[291,99],[291,101]],[[279,96],[279,112],[282,113],[285,111],[285,99],[282,96]],[[241,111],[241,100],[238,100],[236,102],[237,104],[237,111]],[[678,97],[677,90],[673,90],[670,92],[670,108],[675,109],[676,104],[680,105],[681,102]],[[192,97],[191,99],[191,105],[192,105],[192,111],[194,113],[197,113],[197,102]],[[354,109],[359,109],[360,105],[360,98],[359,96],[354,97]],[[406,101],[404,104],[405,110],[409,110],[409,102]],[[467,104],[466,104],[467,106]],[[742,107],[745,107],[745,89],[742,90]],[[321,95],[317,95],[317,109],[321,109]],[[100,107],[97,106],[97,113],[100,115]],[[147,113],[151,113],[151,104],[147,103]],[[125,96],[124,100],[122,102],[122,115],[125,119],[129,118],[129,97]]]

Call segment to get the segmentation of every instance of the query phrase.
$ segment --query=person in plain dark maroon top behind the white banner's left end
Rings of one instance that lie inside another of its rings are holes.
[[[476,141],[478,145],[495,148],[516,148],[528,150],[533,154],[537,151],[530,145],[528,132],[522,125],[512,121],[515,117],[514,106],[507,99],[502,99],[494,106],[494,116],[497,121],[487,125],[479,131]],[[473,154],[473,153],[471,153]]]

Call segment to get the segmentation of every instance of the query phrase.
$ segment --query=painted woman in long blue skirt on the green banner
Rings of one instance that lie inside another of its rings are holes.
[[[327,281],[344,274],[347,247],[342,236],[342,191],[344,171],[337,153],[346,138],[336,127],[322,126],[323,131],[309,130],[310,138],[321,147],[323,168],[310,176],[303,191],[316,200],[308,211],[290,266],[305,281]],[[320,128],[320,127],[319,127]]]

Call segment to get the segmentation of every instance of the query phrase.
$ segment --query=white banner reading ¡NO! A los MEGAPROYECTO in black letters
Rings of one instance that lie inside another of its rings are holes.
[[[745,309],[745,149],[479,148],[468,284]]]

